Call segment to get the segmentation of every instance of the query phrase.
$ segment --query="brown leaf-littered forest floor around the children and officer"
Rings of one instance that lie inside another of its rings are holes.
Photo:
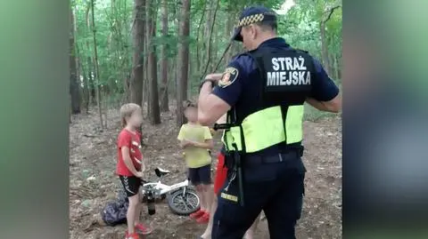
[[[172,109],[172,108],[171,108]],[[185,163],[177,147],[177,127],[174,111],[162,113],[162,123],[143,125],[143,154],[149,160],[150,173],[156,166],[172,171],[165,183],[185,179]],[[113,174],[116,165],[116,137],[120,130],[119,110],[109,110],[107,129],[100,131],[96,112],[72,116],[70,123],[70,238],[121,239],[125,225],[108,227],[100,219],[103,206],[114,201],[120,188]],[[302,217],[297,225],[301,239],[342,238],[342,121],[327,117],[304,123],[305,155],[308,169],[305,179],[306,195]],[[217,163],[213,152],[213,168]],[[154,173],[150,175],[153,179]],[[145,212],[145,208],[144,208]],[[156,214],[143,213],[144,220],[152,221],[154,231],[147,239],[195,238],[205,225],[198,225],[187,217],[169,211],[168,204],[157,204]],[[259,223],[256,238],[268,236],[266,219]]]

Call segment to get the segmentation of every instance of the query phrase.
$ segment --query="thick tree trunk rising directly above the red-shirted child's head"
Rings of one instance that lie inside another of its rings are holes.
[[[133,29],[134,56],[133,68],[130,81],[130,101],[143,107],[143,52],[144,52],[144,31],[145,31],[145,0],[134,1],[134,16],[136,18]]]

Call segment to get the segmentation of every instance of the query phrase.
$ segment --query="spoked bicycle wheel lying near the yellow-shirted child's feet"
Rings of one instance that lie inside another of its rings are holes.
[[[169,195],[169,209],[181,216],[187,216],[194,211],[198,211],[200,207],[199,196],[193,189],[180,189]]]

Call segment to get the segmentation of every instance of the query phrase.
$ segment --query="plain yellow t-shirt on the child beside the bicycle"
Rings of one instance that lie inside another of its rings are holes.
[[[189,140],[204,143],[207,139],[212,139],[210,128],[199,124],[185,123],[178,133],[178,140]],[[199,168],[211,163],[211,156],[208,150],[201,147],[185,147],[185,163],[189,168]]]

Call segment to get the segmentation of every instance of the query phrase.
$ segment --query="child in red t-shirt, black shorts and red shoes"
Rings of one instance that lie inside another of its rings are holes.
[[[118,163],[116,174],[128,195],[129,206],[127,212],[128,231],[127,239],[139,239],[136,230],[143,235],[150,234],[151,229],[139,222],[142,211],[141,178],[145,170],[143,155],[141,154],[141,138],[137,129],[143,123],[141,108],[133,103],[125,104],[120,108],[120,117],[123,130],[118,137]]]

